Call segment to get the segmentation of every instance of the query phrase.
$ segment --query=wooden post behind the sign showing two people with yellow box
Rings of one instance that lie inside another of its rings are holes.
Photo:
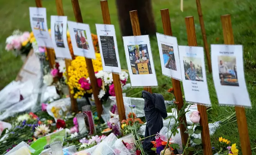
[[[130,19],[132,23],[132,32],[134,36],[140,36],[141,31],[140,31],[140,22],[139,22],[139,17],[138,17],[138,11],[133,10],[129,11],[130,12]],[[149,93],[152,93],[152,89],[148,87],[144,87],[144,91],[148,91]]]

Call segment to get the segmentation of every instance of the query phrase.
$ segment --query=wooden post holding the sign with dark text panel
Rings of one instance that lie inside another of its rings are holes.
[[[104,24],[111,24],[111,19],[109,15],[109,4],[107,0],[101,0],[101,11]],[[124,109],[124,100],[122,95],[122,87],[119,74],[112,73],[114,81],[114,92],[116,94],[116,104],[119,115],[119,121],[126,119],[125,109]]]

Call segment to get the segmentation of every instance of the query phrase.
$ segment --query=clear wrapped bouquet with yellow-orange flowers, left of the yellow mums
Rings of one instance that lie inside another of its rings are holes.
[[[56,100],[47,106],[47,113],[52,116],[56,122],[57,119],[64,119],[64,117],[70,113],[70,110],[70,98]]]

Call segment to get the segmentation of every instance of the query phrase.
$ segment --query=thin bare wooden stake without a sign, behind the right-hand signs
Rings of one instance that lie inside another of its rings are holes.
[[[206,53],[208,70],[211,73],[212,72],[211,71],[211,57],[210,57],[210,52],[209,52],[209,46],[208,46],[207,39],[206,39],[206,29],[204,28],[204,19],[203,19],[203,13],[202,13],[202,9],[201,9],[200,0],[196,0],[196,6],[197,6],[197,11],[198,11],[203,41],[204,41],[204,51]]]

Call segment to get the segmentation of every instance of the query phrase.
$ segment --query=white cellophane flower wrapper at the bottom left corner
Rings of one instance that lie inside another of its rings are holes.
[[[10,151],[8,151],[5,155],[30,155],[28,150],[31,153],[35,152],[35,149],[33,149],[31,146],[29,146],[26,142],[22,141],[17,146],[15,146]],[[29,154],[27,154],[27,152]]]

